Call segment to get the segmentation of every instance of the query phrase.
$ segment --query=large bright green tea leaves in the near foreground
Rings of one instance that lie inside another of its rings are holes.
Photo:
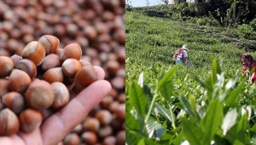
[[[255,85],[241,75],[226,77],[216,59],[206,80],[193,73],[174,80],[180,67],[162,69],[154,89],[143,73],[127,82],[127,144],[256,143]]]

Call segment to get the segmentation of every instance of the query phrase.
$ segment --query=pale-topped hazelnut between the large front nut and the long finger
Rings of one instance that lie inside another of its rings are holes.
[[[60,82],[54,82],[50,85],[52,86],[55,93],[55,99],[51,107],[59,109],[65,106],[69,101],[69,91],[67,90],[66,85]]]

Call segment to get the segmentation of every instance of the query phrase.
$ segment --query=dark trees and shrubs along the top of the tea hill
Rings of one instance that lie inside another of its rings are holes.
[[[255,19],[255,9],[256,2],[253,0],[195,0],[195,3],[177,1],[175,4],[157,5],[144,9],[136,8],[135,10],[143,10],[143,13],[149,16],[172,20],[209,17],[210,20],[218,22],[221,26],[236,27],[241,24],[249,24]]]

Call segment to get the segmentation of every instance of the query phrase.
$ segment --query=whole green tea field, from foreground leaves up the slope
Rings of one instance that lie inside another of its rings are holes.
[[[128,145],[256,144],[256,88],[241,74],[249,50],[232,29],[126,11],[125,33]],[[191,66],[173,64],[183,44]]]

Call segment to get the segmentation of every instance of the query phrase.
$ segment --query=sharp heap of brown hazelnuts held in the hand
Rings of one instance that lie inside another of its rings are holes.
[[[60,41],[44,35],[21,55],[0,56],[0,136],[32,132],[70,100],[70,91],[97,80],[96,69],[81,60],[79,44],[58,48]],[[48,113],[49,114],[49,113]]]

